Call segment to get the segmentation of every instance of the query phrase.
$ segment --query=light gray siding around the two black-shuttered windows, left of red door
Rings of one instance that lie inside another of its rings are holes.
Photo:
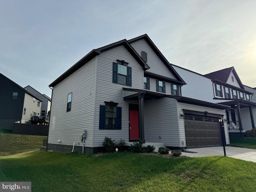
[[[132,87],[112,82],[112,63],[116,62],[117,59],[128,62],[128,66],[132,68]],[[126,141],[129,140],[129,103],[131,102],[123,100],[122,88],[143,90],[143,73],[140,64],[124,46],[113,48],[98,56],[94,147],[102,146],[105,136],[116,141],[121,138]],[[105,101],[116,102],[118,107],[122,107],[122,130],[99,130],[100,105],[105,105]]]

